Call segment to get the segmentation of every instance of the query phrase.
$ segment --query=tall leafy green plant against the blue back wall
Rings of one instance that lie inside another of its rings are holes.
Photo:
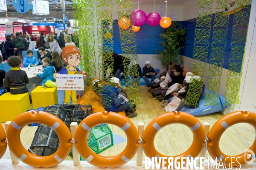
[[[184,48],[185,33],[185,29],[181,28],[178,22],[172,22],[172,25],[164,29],[163,33],[159,35],[163,39],[159,42],[163,51],[155,51],[154,58],[161,61],[163,68],[166,68],[168,62],[183,63],[179,53]]]

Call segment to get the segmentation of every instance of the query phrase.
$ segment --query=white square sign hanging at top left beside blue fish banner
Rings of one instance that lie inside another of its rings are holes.
[[[33,0],[32,4],[34,4],[33,14],[49,15],[49,1],[48,0]]]

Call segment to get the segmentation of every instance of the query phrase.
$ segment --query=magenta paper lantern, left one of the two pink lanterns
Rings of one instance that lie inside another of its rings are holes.
[[[135,9],[132,11],[131,21],[134,26],[143,26],[147,21],[147,15],[143,10]]]

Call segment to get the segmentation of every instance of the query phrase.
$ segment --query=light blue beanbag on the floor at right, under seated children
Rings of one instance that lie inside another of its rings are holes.
[[[203,116],[203,115],[207,115],[215,112],[224,111],[224,109],[227,107],[227,105],[225,105],[227,101],[225,100],[224,96],[218,95],[218,104],[216,106],[215,105],[204,106],[206,104],[205,102],[206,93],[214,93],[214,92],[212,91],[204,92],[199,100],[198,107],[188,108],[184,106],[180,111],[192,114],[193,116]],[[170,101],[172,99],[173,97],[169,98],[168,100]]]

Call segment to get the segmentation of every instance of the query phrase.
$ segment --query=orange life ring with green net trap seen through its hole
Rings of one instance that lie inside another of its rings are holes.
[[[116,156],[100,156],[94,153],[87,144],[87,135],[92,127],[108,123],[116,125],[124,130],[127,136],[125,149]],[[81,157],[90,164],[105,168],[119,167],[130,161],[137,152],[139,146],[139,133],[134,124],[126,117],[115,112],[98,112],[86,117],[77,127],[74,136],[76,148]]]

